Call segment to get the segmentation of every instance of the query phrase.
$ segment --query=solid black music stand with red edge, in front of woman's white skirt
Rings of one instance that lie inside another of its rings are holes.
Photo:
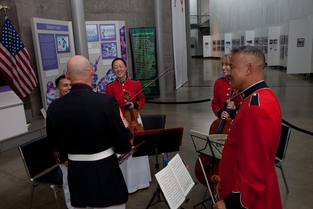
[[[167,129],[158,129],[158,130],[150,130],[150,131],[140,131],[134,132],[134,143],[133,146],[136,146],[142,142],[143,143],[138,150],[133,154],[133,157],[140,157],[146,155],[156,155],[156,173],[159,172],[160,164],[158,163],[158,154],[167,153],[167,152],[176,152],[179,151],[179,146],[182,145],[182,132],[183,127],[177,128],[167,128]],[[164,201],[161,200],[162,194]],[[153,200],[158,197],[157,202],[153,203]],[[148,206],[158,203],[158,202],[165,202],[168,206],[164,194],[157,183],[156,191],[153,193],[153,197],[151,198]],[[169,207],[169,206],[168,206]]]

